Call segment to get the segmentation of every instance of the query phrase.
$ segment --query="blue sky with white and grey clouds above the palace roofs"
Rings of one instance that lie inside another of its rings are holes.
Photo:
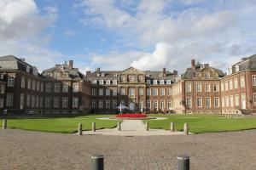
[[[256,0],[0,0],[0,55],[40,71],[225,69],[256,54]]]

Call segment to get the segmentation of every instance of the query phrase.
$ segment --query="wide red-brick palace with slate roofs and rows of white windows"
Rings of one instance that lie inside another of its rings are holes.
[[[41,114],[111,113],[120,104],[154,113],[256,113],[256,55],[226,73],[191,59],[177,71],[86,71],[73,60],[41,74],[25,59],[0,57],[0,111]]]

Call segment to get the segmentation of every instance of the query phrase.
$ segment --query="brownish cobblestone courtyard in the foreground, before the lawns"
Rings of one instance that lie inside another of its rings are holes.
[[[123,137],[0,130],[0,169],[176,169],[188,154],[191,169],[256,169],[256,130],[190,136]]]

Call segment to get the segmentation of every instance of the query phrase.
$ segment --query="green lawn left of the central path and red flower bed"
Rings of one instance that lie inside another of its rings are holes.
[[[52,133],[75,133],[78,124],[83,124],[83,130],[91,130],[91,123],[96,122],[96,129],[116,127],[118,121],[99,120],[97,117],[109,117],[113,115],[90,115],[76,117],[56,117],[56,118],[24,118],[9,119],[8,128],[23,130],[33,130]],[[0,120],[1,125],[3,120]]]

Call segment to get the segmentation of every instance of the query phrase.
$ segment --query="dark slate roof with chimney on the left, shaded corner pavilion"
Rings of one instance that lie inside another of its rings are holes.
[[[55,67],[44,70],[42,72],[42,75],[44,75],[44,77],[47,77],[48,73],[53,73],[55,71],[67,73],[68,77],[71,79],[84,79],[84,74],[82,74],[78,68],[70,68],[67,64],[55,65]]]

